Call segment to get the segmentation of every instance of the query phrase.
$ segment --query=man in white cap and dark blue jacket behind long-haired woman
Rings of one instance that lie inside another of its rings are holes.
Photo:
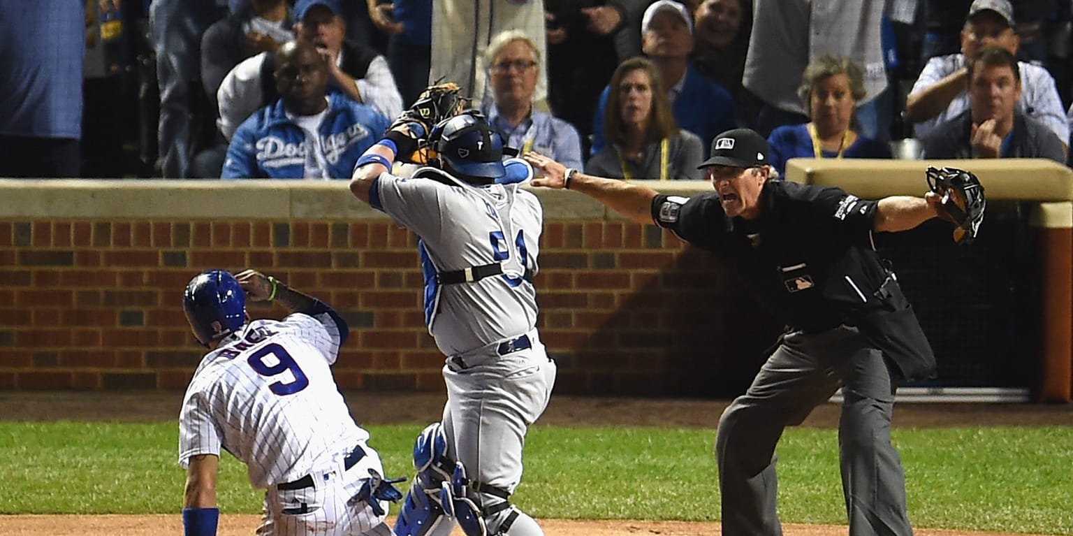
[[[731,93],[690,64],[693,20],[685,5],[674,0],[649,5],[641,19],[641,39],[642,50],[659,70],[678,127],[696,134],[707,148],[716,134],[737,126]],[[611,90],[607,87],[600,96],[592,121],[592,155],[604,145],[604,113]]]

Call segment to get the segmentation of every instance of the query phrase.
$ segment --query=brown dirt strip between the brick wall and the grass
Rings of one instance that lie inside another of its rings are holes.
[[[425,423],[440,420],[444,395],[412,392],[347,392],[351,412],[363,424]],[[180,392],[0,392],[0,418],[17,421],[178,420]],[[553,395],[538,425],[638,425],[715,429],[726,401],[609,399]],[[823,404],[806,426],[832,428],[839,406]],[[971,425],[1073,426],[1073,406],[1040,404],[901,403],[894,425],[905,428]]]

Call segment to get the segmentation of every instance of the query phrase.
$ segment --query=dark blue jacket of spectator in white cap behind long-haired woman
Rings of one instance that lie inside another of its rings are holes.
[[[664,88],[666,89],[666,88]],[[596,155],[604,146],[603,117],[607,111],[607,96],[611,86],[600,95],[596,117],[592,119],[592,151]],[[704,158],[708,157],[711,140],[716,134],[737,128],[734,98],[719,84],[705,78],[690,63],[686,68],[686,82],[681,92],[671,106],[678,128],[688,130],[701,139]]]

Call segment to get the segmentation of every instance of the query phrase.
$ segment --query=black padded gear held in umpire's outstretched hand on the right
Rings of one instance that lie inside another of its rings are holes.
[[[987,199],[984,197],[984,186],[971,172],[956,168],[936,169],[928,166],[926,172],[928,187],[942,197],[942,207],[945,218],[957,227],[954,228],[954,242],[969,244],[980,231],[984,221],[984,208]]]

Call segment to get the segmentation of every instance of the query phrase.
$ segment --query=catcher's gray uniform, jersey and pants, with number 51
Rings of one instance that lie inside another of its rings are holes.
[[[509,165],[528,169],[521,161]],[[414,478],[403,515],[412,507],[408,504],[424,501],[423,507],[433,513],[414,533],[446,535],[457,519],[469,534],[466,511],[439,517],[437,505],[427,504],[431,496],[442,505],[437,490],[445,480],[456,484],[456,495],[472,499],[488,534],[543,534],[535,521],[508,502],[521,478],[526,431],[544,411],[556,375],[535,329],[531,283],[543,209],[536,197],[517,184],[472,186],[432,168],[414,176],[418,178],[383,173],[369,195],[373,207],[421,236],[425,318],[447,357],[445,459],[440,452],[432,455],[442,470],[433,481],[423,481],[424,475]],[[481,277],[489,266],[494,273]],[[442,463],[446,460],[450,463]],[[456,461],[465,476],[455,472],[452,478]],[[472,482],[459,486],[459,478],[467,477]],[[452,502],[446,503],[452,513]],[[395,531],[410,534],[400,523]]]

